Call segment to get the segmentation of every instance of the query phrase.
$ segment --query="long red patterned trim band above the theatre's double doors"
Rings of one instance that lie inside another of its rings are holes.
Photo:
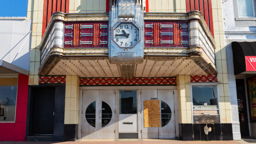
[[[153,84],[176,84],[176,77],[169,78],[81,78],[80,85],[153,85]]]

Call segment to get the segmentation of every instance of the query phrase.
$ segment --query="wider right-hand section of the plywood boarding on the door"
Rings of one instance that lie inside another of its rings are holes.
[[[160,101],[151,100],[151,127],[161,127]]]

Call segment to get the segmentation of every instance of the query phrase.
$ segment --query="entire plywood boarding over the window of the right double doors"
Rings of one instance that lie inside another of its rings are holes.
[[[143,101],[144,127],[161,127],[160,101]]]

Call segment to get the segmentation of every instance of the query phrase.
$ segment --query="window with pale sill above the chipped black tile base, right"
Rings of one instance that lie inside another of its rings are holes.
[[[193,109],[218,109],[217,86],[192,86]]]

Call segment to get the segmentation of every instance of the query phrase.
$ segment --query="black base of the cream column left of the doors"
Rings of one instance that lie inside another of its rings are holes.
[[[78,124],[65,124],[64,125],[64,141],[78,140]]]

